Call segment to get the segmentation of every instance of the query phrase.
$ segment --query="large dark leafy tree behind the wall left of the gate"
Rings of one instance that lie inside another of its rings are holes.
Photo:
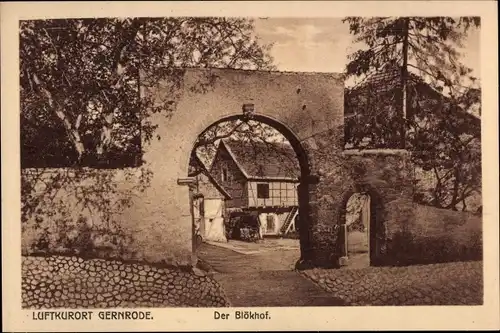
[[[161,104],[139,96],[139,84],[169,80],[175,87],[186,67],[269,69],[268,47],[246,19],[22,21],[23,158],[88,165],[137,155],[139,132],[154,132],[139,119],[175,107],[174,96]]]

